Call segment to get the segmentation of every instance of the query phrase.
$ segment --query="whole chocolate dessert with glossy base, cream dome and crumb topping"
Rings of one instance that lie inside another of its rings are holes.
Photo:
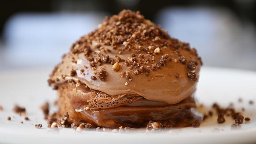
[[[123,10],[76,41],[48,83],[58,90],[58,116],[69,118],[66,124],[199,126],[193,94],[200,66],[188,43]]]

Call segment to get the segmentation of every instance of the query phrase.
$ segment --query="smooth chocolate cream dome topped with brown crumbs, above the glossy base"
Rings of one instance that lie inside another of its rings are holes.
[[[195,92],[202,65],[195,49],[138,12],[123,10],[72,45],[48,80],[69,79],[110,96],[176,104]]]

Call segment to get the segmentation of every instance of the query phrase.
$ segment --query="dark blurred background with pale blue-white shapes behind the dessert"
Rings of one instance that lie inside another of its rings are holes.
[[[73,42],[122,9],[197,48],[204,66],[256,70],[256,0],[5,0],[0,71],[54,66]]]

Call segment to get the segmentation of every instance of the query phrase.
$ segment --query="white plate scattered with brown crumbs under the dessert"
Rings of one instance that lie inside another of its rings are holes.
[[[200,73],[196,97],[199,103],[210,107],[212,103],[228,105],[233,102],[238,110],[245,108],[244,122],[240,130],[231,130],[234,120],[226,118],[224,124],[217,124],[216,117],[206,120],[199,128],[187,127],[171,129],[163,133],[109,133],[83,131],[77,133],[72,129],[53,131],[47,128],[46,121],[39,105],[46,100],[56,100],[56,91],[48,87],[46,79],[52,68],[4,71],[0,72],[0,143],[248,143],[256,142],[256,110],[249,105],[249,100],[256,102],[256,72],[232,70],[224,68],[204,67]],[[239,103],[238,98],[243,98]],[[24,116],[13,113],[13,105],[17,103],[26,107],[30,121]],[[51,109],[52,110],[52,109]],[[11,121],[7,120],[11,116]],[[24,124],[20,122],[23,121]],[[36,129],[34,124],[43,124]]]

